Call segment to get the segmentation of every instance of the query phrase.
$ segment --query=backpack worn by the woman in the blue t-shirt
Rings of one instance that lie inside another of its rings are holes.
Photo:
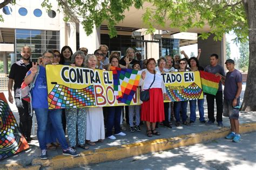
[[[36,82],[36,79],[37,79],[37,76],[39,74],[39,70],[40,70],[40,67],[39,65],[37,66],[37,73],[35,75],[35,77],[33,78],[32,82],[27,85],[24,83],[24,81],[22,82],[22,85],[21,85],[21,89],[19,89],[19,92],[21,94],[20,98],[21,100],[25,100],[25,101],[28,101],[30,103],[30,114],[32,114],[32,96],[31,96],[31,93],[30,91],[33,89],[33,87],[35,87],[35,82]]]

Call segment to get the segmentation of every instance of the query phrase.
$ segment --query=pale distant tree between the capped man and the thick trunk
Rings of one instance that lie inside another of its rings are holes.
[[[240,69],[242,67],[248,67],[248,64],[249,64],[249,43],[248,42],[240,44],[239,53],[240,53],[240,59],[239,59]]]

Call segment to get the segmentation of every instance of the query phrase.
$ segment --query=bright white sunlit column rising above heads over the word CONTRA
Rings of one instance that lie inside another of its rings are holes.
[[[93,53],[100,45],[100,28],[94,27],[92,34],[87,36],[83,25],[79,24],[79,41],[80,47],[86,47],[88,53]]]

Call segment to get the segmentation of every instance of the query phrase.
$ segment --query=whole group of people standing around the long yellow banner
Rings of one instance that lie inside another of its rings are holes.
[[[125,112],[126,123],[130,125],[130,132],[140,132],[140,124],[145,121],[146,135],[160,135],[156,130],[159,123],[166,127],[172,127],[171,120],[176,120],[176,126],[191,125],[196,121],[196,105],[198,104],[199,120],[201,123],[211,125],[214,123],[214,99],[217,104],[217,123],[223,126],[222,115],[230,117],[232,132],[227,139],[238,142],[239,135],[239,95],[241,92],[241,73],[234,69],[234,61],[228,59],[226,67],[229,71],[227,75],[222,66],[218,65],[218,55],[210,56],[210,65],[199,66],[201,50],[198,50],[197,57],[188,58],[184,51],[181,54],[185,58],[180,59],[179,55],[174,57],[160,57],[157,61],[153,58],[142,60],[142,55],[129,47],[125,56],[120,59],[119,52],[111,52],[107,56],[109,48],[100,45],[93,54],[87,54],[88,50],[81,47],[75,53],[69,46],[62,47],[62,50],[47,50],[37,63],[30,61],[31,48],[24,46],[21,51],[22,59],[11,66],[9,74],[9,101],[15,100],[19,112],[19,127],[27,141],[33,140],[31,135],[32,113],[27,101],[20,98],[21,84],[29,85],[35,82],[32,94],[32,108],[37,119],[37,138],[41,148],[41,159],[48,159],[47,151],[61,146],[64,155],[78,156],[76,147],[88,149],[89,146],[103,142],[105,137],[116,139],[116,135],[125,136],[122,113]],[[48,90],[46,84],[47,64],[62,64],[77,67],[87,67],[90,69],[110,70],[111,66],[120,68],[130,68],[142,70],[142,78],[139,86],[142,91],[149,90],[149,100],[143,101],[142,105],[111,106],[111,107],[91,107],[91,108],[48,108]],[[206,94],[208,108],[208,122],[204,118],[204,99],[190,100],[190,121],[187,121],[188,101],[174,101],[164,103],[165,85],[163,72],[183,72],[204,70],[221,77],[217,94]],[[37,76],[36,76],[37,75]],[[35,79],[35,81],[34,81]],[[12,97],[12,86],[14,83],[14,94]],[[221,83],[225,84],[224,89],[224,109],[223,109],[223,89]],[[226,88],[227,87],[227,88]],[[163,94],[163,95],[159,95]],[[122,112],[123,111],[123,112]],[[180,121],[181,115],[181,121]],[[135,121],[134,121],[135,117]],[[114,131],[112,131],[114,128]],[[67,130],[69,144],[65,138]],[[87,145],[86,145],[87,144]]]

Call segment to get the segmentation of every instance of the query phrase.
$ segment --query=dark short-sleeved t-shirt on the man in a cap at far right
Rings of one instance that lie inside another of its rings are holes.
[[[238,85],[237,83],[242,83],[242,74],[240,71],[235,69],[232,72],[227,72],[224,86],[224,99],[233,100],[235,94],[237,94]]]

